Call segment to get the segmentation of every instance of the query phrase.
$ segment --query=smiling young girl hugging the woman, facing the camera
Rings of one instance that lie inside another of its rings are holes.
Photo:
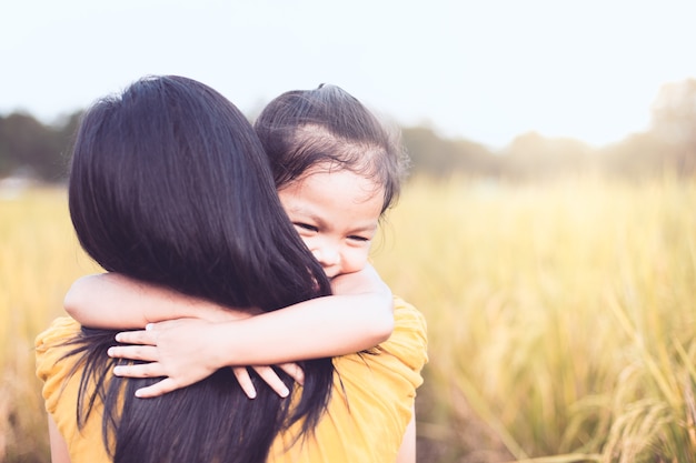
[[[120,342],[145,345],[112,348],[110,355],[152,363],[119,366],[118,374],[167,376],[141,390],[140,396],[191,384],[226,365],[268,365],[358,352],[374,348],[391,332],[391,295],[368,264],[368,253],[380,217],[398,195],[405,158],[397,140],[355,98],[326,85],[280,95],[264,110],[255,128],[270,159],[284,209],[332,279],[337,295],[245,320],[219,321],[226,311],[206,301],[119,275],[82,279],[66,305],[88,325],[141,326],[171,319],[172,305],[181,316],[197,318],[199,309],[206,308],[208,321],[168,321],[151,324],[147,331],[119,334]],[[118,304],[109,303],[116,300]],[[415,346],[399,360],[418,373],[426,361],[422,319],[408,304],[395,301],[395,331]],[[389,344],[380,349],[388,351]],[[272,370],[258,373],[282,390],[269,374]],[[238,374],[238,379],[252,395],[249,378]],[[420,381],[412,384],[414,393]],[[412,409],[412,394],[410,400]],[[412,461],[414,447],[411,416],[400,461]]]

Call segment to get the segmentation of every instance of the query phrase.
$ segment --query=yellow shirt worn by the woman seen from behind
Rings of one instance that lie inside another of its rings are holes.
[[[295,441],[299,423],[279,435],[269,454],[272,463],[392,462],[411,417],[420,371],[427,362],[426,323],[412,305],[395,298],[394,333],[374,354],[334,359],[337,374],[331,401],[314,435]],[[101,404],[82,430],[76,421],[81,370],[68,378],[76,358],[59,362],[80,325],[57,319],[37,336],[37,375],[44,382],[46,410],[66,439],[71,463],[110,462],[101,437]],[[342,385],[341,385],[342,383]],[[345,392],[344,392],[345,391]]]

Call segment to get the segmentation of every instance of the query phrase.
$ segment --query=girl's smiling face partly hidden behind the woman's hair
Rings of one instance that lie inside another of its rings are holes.
[[[314,170],[278,194],[327,276],[365,268],[384,205],[379,185],[348,170]]]

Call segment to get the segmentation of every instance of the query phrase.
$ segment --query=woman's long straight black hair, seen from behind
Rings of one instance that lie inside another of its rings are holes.
[[[264,311],[330,293],[281,209],[252,127],[197,81],[145,78],[95,103],[78,131],[69,205],[80,243],[108,271]],[[72,354],[83,361],[79,424],[103,402],[117,463],[262,462],[278,432],[298,420],[309,432],[329,400],[330,359],[301,362],[292,407],[257,376],[258,395],[247,399],[230,369],[136,399],[156,380],[110,376],[113,334],[83,329]]]

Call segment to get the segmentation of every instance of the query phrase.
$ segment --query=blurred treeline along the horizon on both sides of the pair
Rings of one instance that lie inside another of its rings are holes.
[[[696,80],[660,90],[653,108],[653,128],[629,134],[619,143],[590,147],[573,139],[549,139],[530,132],[494,151],[464,139],[445,139],[425,127],[402,129],[414,174],[451,175],[516,182],[554,181],[568,174],[595,173],[642,180],[665,172],[683,177],[696,172]],[[39,180],[62,181],[79,113],[56,125],[28,114],[0,117],[0,179],[18,172]]]

